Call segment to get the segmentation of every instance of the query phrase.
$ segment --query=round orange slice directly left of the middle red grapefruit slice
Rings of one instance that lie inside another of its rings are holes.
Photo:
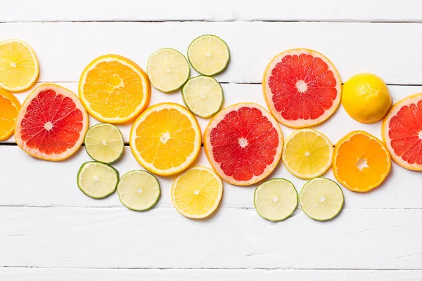
[[[198,122],[177,103],[148,107],[132,125],[129,137],[139,164],[161,176],[177,174],[192,164],[200,143]]]

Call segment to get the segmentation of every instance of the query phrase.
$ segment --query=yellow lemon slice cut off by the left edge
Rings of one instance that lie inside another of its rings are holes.
[[[39,74],[37,55],[26,42],[0,42],[0,87],[12,92],[28,89]]]

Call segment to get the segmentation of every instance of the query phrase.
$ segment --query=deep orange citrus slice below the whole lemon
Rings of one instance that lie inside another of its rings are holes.
[[[347,189],[366,192],[383,183],[391,159],[385,145],[364,131],[352,131],[334,148],[333,173]]]

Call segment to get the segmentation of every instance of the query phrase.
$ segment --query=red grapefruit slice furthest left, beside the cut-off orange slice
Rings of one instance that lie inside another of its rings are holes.
[[[59,161],[79,149],[88,124],[87,110],[75,93],[55,84],[42,84],[20,109],[15,140],[33,157]]]

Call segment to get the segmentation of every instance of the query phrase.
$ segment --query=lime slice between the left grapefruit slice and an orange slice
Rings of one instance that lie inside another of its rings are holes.
[[[91,126],[85,136],[85,150],[88,155],[103,163],[113,163],[124,148],[123,136],[119,129],[112,124],[101,123]]]

